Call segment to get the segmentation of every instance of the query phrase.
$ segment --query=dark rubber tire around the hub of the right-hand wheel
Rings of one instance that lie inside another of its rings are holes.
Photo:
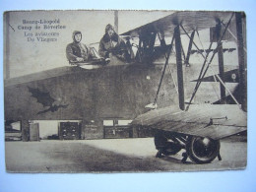
[[[198,144],[198,141],[202,141],[202,137],[196,137],[196,136],[192,136],[189,137],[186,143],[186,151],[187,151],[187,155],[189,157],[190,160],[199,163],[199,164],[203,164],[203,163],[210,163],[211,161],[215,160],[217,158],[217,156],[220,154],[220,148],[221,148],[221,143],[220,140],[213,140],[211,138],[207,138],[211,141],[211,151],[210,154],[204,156],[204,155],[200,155],[201,152],[198,151],[198,149],[195,149],[196,145]],[[203,148],[203,146],[202,146]],[[198,152],[197,152],[198,151]],[[209,152],[207,152],[209,153]]]

